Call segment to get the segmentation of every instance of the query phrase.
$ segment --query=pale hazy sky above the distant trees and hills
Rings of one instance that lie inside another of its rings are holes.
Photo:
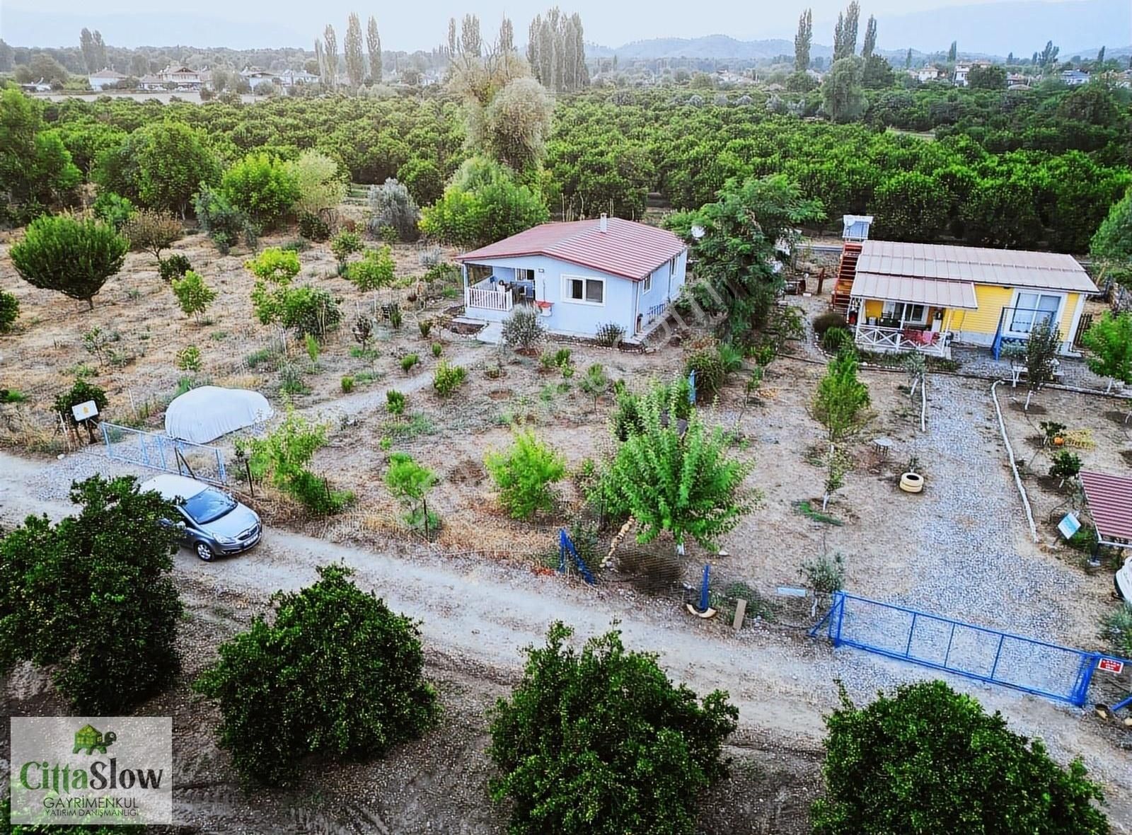
[[[1000,0],[1001,1],[1001,0]],[[1005,0],[1018,2],[1020,0]],[[1132,0],[1126,0],[1132,5]],[[814,10],[814,40],[817,43],[832,42],[832,21],[838,11],[848,0],[808,0]],[[908,15],[910,12],[934,9],[944,6],[970,5],[971,0],[864,0],[861,3],[861,25],[864,33],[865,18],[876,15],[882,21],[886,17]],[[32,16],[46,24],[52,21],[52,28],[46,32],[58,32],[51,38],[54,43],[45,43],[44,27],[35,28],[35,37],[40,45],[71,44],[77,42],[77,32],[71,32],[76,23],[89,19],[89,25],[104,26],[103,35],[109,43],[123,46],[135,46],[129,43],[136,37],[145,37],[139,43],[175,44],[183,43],[187,33],[181,32],[177,24],[162,27],[162,16],[195,16],[215,18],[243,24],[234,32],[217,31],[213,44],[194,45],[240,45],[255,42],[258,45],[302,45],[309,48],[315,36],[327,23],[333,23],[338,32],[341,44],[345,29],[346,15],[357,9],[365,21],[369,15],[376,15],[381,32],[381,42],[386,49],[429,49],[440,43],[447,31],[447,19],[460,17],[465,11],[480,16],[483,35],[491,40],[498,28],[498,21],[504,14],[515,24],[515,40],[525,43],[526,26],[531,18],[546,10],[550,0],[470,0],[461,3],[458,0],[413,0],[412,2],[375,3],[367,8],[357,0],[321,0],[320,2],[302,2],[300,0],[192,0],[174,6],[154,3],[152,0],[0,0],[0,36],[3,36],[3,16],[6,10],[11,20],[12,32],[8,40],[17,45],[24,43],[20,34],[27,32],[27,20]],[[688,0],[566,0],[563,8],[577,11],[582,16],[586,41],[609,46],[617,46],[629,41],[651,37],[694,37],[698,35],[727,34],[740,40],[765,37],[792,37],[797,27],[798,12],[801,3],[782,2],[689,2]],[[15,12],[15,14],[14,14]],[[98,19],[94,19],[97,16]],[[115,17],[114,16],[122,16]],[[170,20],[165,18],[165,20]],[[58,28],[54,24],[58,23]],[[78,23],[82,26],[82,23]],[[255,26],[259,26],[259,37]],[[168,31],[161,31],[166,28]],[[118,32],[115,32],[115,29]],[[140,33],[140,34],[139,34]],[[290,44],[280,43],[280,37],[288,37]],[[951,37],[960,37],[963,33],[936,33],[941,40],[941,49],[946,48]],[[880,42],[884,46],[884,27],[880,27]],[[1056,37],[1056,33],[1053,33]],[[44,38],[44,40],[41,40]],[[946,40],[946,42],[944,42]],[[266,41],[260,43],[260,41]],[[1123,33],[1115,41],[1127,43],[1132,41],[1130,33]],[[892,44],[900,46],[902,44]],[[1083,45],[1083,44],[1082,44]]]

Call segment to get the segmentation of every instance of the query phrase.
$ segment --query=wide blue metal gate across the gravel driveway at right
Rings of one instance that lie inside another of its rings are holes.
[[[811,636],[1082,706],[1107,656],[838,592]]]

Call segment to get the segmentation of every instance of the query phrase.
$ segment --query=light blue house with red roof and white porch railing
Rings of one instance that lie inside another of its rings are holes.
[[[594,336],[615,322],[633,336],[679,295],[688,248],[667,230],[602,215],[544,223],[456,260],[468,319],[503,321],[531,304],[555,334]]]

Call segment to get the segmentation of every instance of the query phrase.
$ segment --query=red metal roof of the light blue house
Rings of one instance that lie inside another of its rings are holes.
[[[685,249],[684,241],[655,226],[610,217],[607,231],[602,232],[600,224],[600,221],[543,223],[517,235],[464,252],[456,260],[541,255],[623,278],[643,281],[657,267]]]

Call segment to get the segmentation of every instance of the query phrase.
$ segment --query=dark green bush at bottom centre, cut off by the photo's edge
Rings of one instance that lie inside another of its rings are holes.
[[[738,708],[722,691],[701,699],[674,685],[618,631],[581,652],[566,646],[572,634],[556,622],[544,647],[525,651],[522,681],[491,716],[490,791],[508,801],[508,832],[696,832],[701,793],[727,776]]]

